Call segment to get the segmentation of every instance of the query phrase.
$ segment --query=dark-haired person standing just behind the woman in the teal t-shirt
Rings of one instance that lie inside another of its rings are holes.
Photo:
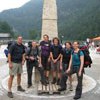
[[[71,58],[71,52],[72,52],[71,47],[72,47],[71,42],[66,42],[65,48],[63,48],[61,51],[60,69],[62,70],[62,74],[68,69],[69,61]],[[73,90],[72,77],[69,75],[68,78],[70,81],[69,89],[70,89],[70,91],[72,91]]]

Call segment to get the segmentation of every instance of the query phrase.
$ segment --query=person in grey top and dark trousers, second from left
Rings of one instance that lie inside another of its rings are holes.
[[[44,69],[41,64],[41,58],[39,54],[39,49],[37,47],[37,43],[35,41],[32,42],[32,46],[30,50],[26,54],[26,65],[27,65],[27,77],[28,77],[28,88],[32,86],[32,71],[35,66],[40,72],[41,83],[43,85],[47,85],[45,77],[44,77]]]

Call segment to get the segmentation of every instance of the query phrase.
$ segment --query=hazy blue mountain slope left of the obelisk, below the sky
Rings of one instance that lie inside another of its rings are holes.
[[[0,13],[0,20],[7,21],[18,34],[29,37],[30,30],[40,32],[42,24],[42,0],[31,0],[20,8]]]

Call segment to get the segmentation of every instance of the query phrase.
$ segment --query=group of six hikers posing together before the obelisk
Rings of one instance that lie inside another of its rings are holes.
[[[72,74],[77,74],[77,87],[74,99],[81,98],[82,79],[84,72],[84,53],[79,49],[79,42],[66,42],[63,48],[57,37],[49,41],[49,36],[43,36],[43,40],[37,46],[37,42],[32,41],[31,46],[25,47],[22,44],[22,36],[17,38],[17,42],[10,46],[8,52],[9,62],[9,80],[8,97],[13,98],[12,83],[17,75],[17,90],[24,92],[21,86],[21,74],[23,65],[26,61],[27,66],[27,88],[32,86],[32,70],[37,68],[41,76],[41,84],[49,84],[52,76],[52,84],[60,86],[58,91],[67,89],[67,79],[70,81],[70,90],[72,90]],[[52,74],[51,74],[52,73]]]

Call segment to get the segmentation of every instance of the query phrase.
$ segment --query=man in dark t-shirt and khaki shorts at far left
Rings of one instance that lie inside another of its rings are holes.
[[[8,54],[9,61],[9,80],[8,80],[8,97],[13,98],[11,91],[13,78],[17,74],[17,90],[24,92],[25,90],[21,87],[21,73],[23,72],[22,66],[25,62],[25,47],[22,44],[22,37],[17,38],[17,43],[11,45]]]

